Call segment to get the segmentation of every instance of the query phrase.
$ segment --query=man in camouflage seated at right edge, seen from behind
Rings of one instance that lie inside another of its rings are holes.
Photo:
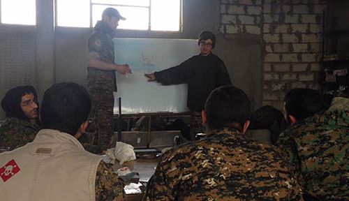
[[[304,200],[348,200],[349,100],[334,98],[328,110],[319,112],[322,99],[317,97],[320,94],[311,89],[288,92],[285,114],[293,126],[276,146],[288,154]],[[314,114],[309,115],[309,107]]]

